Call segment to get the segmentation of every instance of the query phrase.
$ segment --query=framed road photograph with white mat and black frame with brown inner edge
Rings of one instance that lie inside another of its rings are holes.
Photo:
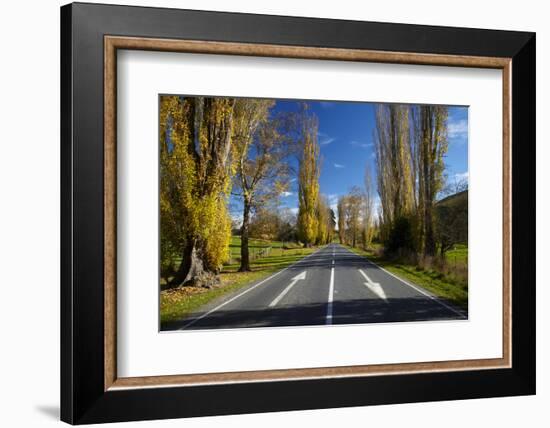
[[[72,424],[535,393],[535,35],[61,8]]]

